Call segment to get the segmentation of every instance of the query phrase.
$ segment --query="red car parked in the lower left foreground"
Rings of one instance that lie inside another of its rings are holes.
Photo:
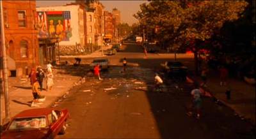
[[[15,115],[1,138],[54,138],[67,128],[68,110],[35,108]]]

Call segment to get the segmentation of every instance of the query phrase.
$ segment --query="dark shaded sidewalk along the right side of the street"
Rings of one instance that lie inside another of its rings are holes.
[[[195,82],[201,83],[200,77],[191,77]],[[255,85],[246,84],[236,78],[228,78],[226,86],[220,86],[220,74],[210,70],[207,74],[207,84],[203,87],[211,92],[214,98],[232,108],[241,119],[246,119],[255,125]],[[231,99],[226,98],[225,92],[230,88]]]

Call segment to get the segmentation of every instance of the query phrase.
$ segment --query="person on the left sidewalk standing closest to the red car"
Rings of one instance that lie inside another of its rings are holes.
[[[38,87],[39,82],[38,80],[36,80],[36,82],[32,86],[33,101],[31,103],[31,107],[37,107],[45,101],[45,96],[41,95],[41,92],[38,91]]]

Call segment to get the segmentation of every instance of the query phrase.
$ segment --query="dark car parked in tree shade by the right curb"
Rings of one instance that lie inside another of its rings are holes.
[[[164,64],[161,64],[161,66],[163,66],[164,71],[166,71],[166,73],[171,77],[186,79],[188,68],[184,66],[182,62],[166,61]]]

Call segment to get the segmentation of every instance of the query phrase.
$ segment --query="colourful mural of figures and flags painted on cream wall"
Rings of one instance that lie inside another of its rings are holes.
[[[58,37],[61,41],[69,41],[72,37],[70,11],[38,11],[38,37]]]

